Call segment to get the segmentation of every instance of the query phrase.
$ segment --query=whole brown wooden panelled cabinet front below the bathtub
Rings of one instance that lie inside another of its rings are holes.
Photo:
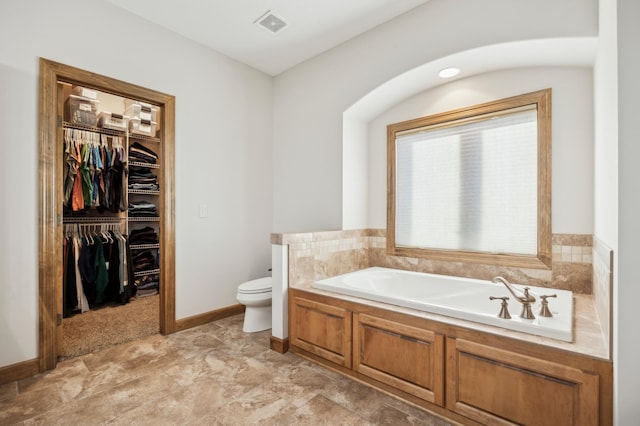
[[[463,424],[612,423],[606,360],[298,289],[289,335],[293,352]]]

